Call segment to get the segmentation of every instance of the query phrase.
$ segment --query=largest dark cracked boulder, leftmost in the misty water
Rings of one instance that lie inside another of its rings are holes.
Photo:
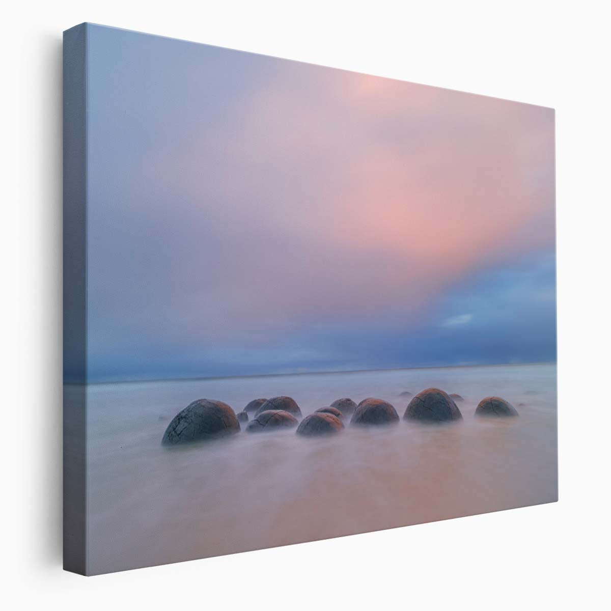
[[[174,417],[161,442],[167,445],[184,444],[219,439],[239,432],[240,422],[227,403],[199,399]]]

